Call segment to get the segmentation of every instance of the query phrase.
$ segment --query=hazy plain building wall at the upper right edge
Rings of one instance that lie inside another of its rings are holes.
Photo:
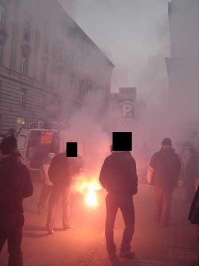
[[[171,56],[166,58],[170,106],[179,120],[199,121],[199,1],[168,3]],[[199,123],[198,123],[199,124]]]

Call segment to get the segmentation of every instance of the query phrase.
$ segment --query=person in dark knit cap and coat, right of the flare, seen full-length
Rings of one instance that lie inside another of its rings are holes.
[[[180,157],[172,148],[171,139],[165,138],[161,150],[151,158],[147,175],[148,184],[154,186],[154,218],[164,227],[169,225],[172,193],[178,185],[180,171]]]

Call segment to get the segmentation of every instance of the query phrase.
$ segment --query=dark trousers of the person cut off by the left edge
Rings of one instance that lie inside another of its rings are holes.
[[[22,228],[24,224],[23,214],[11,215],[12,225],[8,232],[2,232],[0,229],[0,252],[7,240],[8,246],[8,266],[23,266],[23,257],[21,252]]]

